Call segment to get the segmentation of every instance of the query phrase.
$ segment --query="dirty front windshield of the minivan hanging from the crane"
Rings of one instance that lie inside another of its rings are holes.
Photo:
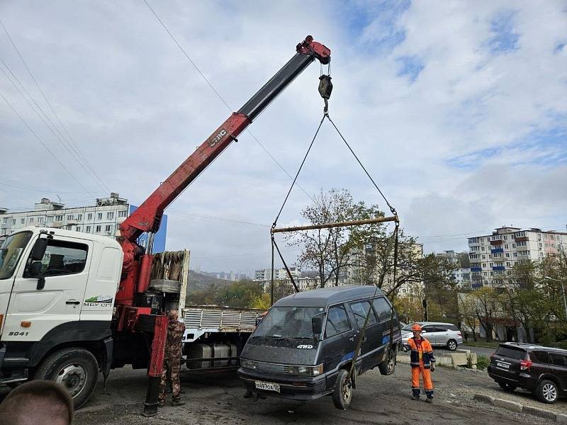
[[[313,339],[311,318],[322,307],[272,307],[254,331],[254,336],[287,339]]]

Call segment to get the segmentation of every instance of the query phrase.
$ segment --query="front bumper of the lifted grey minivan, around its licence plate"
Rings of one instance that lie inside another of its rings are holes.
[[[325,374],[315,377],[283,376],[276,373],[254,372],[254,370],[240,368],[238,369],[238,376],[247,390],[271,397],[312,400],[332,391],[326,389],[327,376]],[[256,381],[278,384],[280,392],[259,390],[256,387]]]

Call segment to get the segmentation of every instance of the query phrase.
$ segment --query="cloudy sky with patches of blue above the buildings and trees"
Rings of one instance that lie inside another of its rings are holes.
[[[425,251],[500,225],[565,230],[567,1],[147,1],[232,110],[305,35],[330,47],[330,114]],[[108,191],[139,204],[228,118],[143,0],[2,0],[0,19],[43,91],[0,28],[1,206]],[[269,266],[286,172],[322,114],[319,74],[171,205],[168,249],[207,271]],[[298,222],[303,191],[385,207],[327,124],[299,183],[281,224]]]

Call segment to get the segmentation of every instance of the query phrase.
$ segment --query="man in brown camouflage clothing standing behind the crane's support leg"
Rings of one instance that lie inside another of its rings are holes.
[[[165,405],[165,388],[169,383],[172,388],[172,406],[182,406],[181,382],[179,382],[179,368],[181,366],[181,340],[185,332],[185,325],[178,320],[177,310],[169,312],[167,324],[167,341],[165,343],[164,367],[162,379],[159,381],[159,407]]]

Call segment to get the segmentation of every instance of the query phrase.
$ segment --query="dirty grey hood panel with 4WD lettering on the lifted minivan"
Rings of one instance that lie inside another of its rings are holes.
[[[246,343],[240,356],[249,360],[264,361],[267,363],[315,365],[316,354],[317,344],[315,344],[313,339],[268,339],[252,337]]]

